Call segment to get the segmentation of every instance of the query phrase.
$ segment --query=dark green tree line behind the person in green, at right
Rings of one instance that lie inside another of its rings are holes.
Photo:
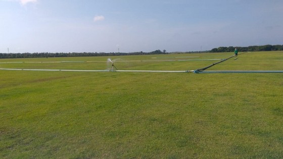
[[[233,52],[235,48],[240,52],[247,51],[279,51],[283,50],[283,45],[261,45],[261,46],[248,46],[248,47],[218,47],[213,48],[210,52]]]

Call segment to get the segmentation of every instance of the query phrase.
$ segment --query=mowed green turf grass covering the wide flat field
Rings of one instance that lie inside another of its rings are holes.
[[[221,59],[232,55],[118,58]],[[106,61],[107,58],[1,59],[0,62]],[[115,65],[120,70],[194,70],[215,62],[117,62]],[[283,70],[282,62],[283,52],[247,52],[238,60],[230,59],[208,70]],[[0,64],[0,68],[25,69],[108,67],[100,62]],[[282,79],[282,73],[0,70],[0,157],[281,158]]]

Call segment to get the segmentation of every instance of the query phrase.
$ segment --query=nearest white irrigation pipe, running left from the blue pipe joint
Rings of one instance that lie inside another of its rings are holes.
[[[70,72],[194,72],[194,70],[186,71],[153,71],[153,70],[45,70],[45,69],[1,69],[15,71],[70,71]]]

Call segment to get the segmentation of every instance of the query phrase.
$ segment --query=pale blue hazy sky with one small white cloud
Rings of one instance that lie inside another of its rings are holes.
[[[0,53],[283,44],[282,0],[0,0]]]

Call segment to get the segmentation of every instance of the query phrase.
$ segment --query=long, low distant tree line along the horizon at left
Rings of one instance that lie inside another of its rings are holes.
[[[123,52],[35,52],[35,53],[0,53],[0,59],[11,59],[11,58],[55,58],[55,57],[98,57],[98,56],[125,56],[125,55],[158,55],[158,54],[168,54],[166,50],[155,50],[152,52],[130,52],[130,53],[123,53]]]

